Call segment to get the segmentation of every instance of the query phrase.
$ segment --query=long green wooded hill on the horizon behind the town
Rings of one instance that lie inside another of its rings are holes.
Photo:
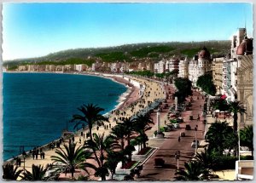
[[[230,52],[230,41],[207,41],[207,42],[172,42],[172,43],[137,43],[125,44],[116,47],[97,48],[97,49],[67,49],[53,54],[47,54],[43,57],[9,60],[3,65],[20,64],[49,64],[57,62],[58,64],[72,63],[91,63],[96,60],[106,62],[115,61],[133,61],[145,58],[151,60],[160,60],[172,55],[188,56],[192,58],[203,46],[213,55],[224,55]]]

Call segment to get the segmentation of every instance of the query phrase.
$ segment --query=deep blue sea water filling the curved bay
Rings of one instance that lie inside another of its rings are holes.
[[[54,73],[3,73],[3,160],[61,136],[82,104],[110,112],[124,85],[94,76]]]

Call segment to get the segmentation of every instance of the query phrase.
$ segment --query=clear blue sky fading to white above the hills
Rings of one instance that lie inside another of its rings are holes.
[[[250,3],[4,3],[3,60],[125,43],[230,39]]]

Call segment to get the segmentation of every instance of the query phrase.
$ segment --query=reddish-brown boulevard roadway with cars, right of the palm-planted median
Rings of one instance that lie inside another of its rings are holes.
[[[168,86],[171,87],[171,86]],[[197,99],[199,96],[199,99]],[[171,100],[172,101],[172,100]],[[169,102],[169,101],[168,101]],[[191,147],[191,142],[195,140],[195,133],[197,134],[198,140],[203,140],[203,134],[205,125],[202,123],[203,118],[197,121],[197,115],[201,115],[201,106],[203,106],[204,99],[199,92],[194,90],[193,101],[191,109],[193,111],[182,112],[184,122],[181,123],[181,128],[175,131],[166,132],[164,140],[150,139],[148,141],[149,146],[158,146],[159,150],[154,153],[152,157],[148,159],[143,165],[141,176],[137,180],[174,180],[175,172],[177,170],[177,160],[174,157],[176,151],[181,152],[179,159],[179,168],[184,167],[184,163],[188,162],[189,159],[195,154],[195,148]],[[189,120],[189,116],[193,115],[195,120]],[[165,117],[162,117],[165,118]],[[186,123],[189,123],[192,130],[185,130]],[[195,126],[198,125],[198,130],[195,132]],[[185,132],[186,136],[181,138],[178,142],[177,138],[180,132]],[[149,136],[149,134],[148,134]],[[165,166],[163,168],[154,168],[154,158],[162,158],[165,160]]]

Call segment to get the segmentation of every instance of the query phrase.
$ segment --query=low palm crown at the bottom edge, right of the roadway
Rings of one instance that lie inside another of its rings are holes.
[[[204,180],[209,171],[200,162],[190,162],[184,164],[185,169],[178,169],[175,173],[177,180]]]

